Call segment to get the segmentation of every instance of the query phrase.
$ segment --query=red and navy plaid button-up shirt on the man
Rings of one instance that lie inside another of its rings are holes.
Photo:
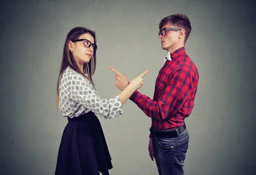
[[[154,98],[135,91],[130,100],[151,118],[152,128],[175,129],[183,125],[194,107],[198,70],[181,47],[171,54],[157,76]],[[151,135],[150,135],[151,138]]]

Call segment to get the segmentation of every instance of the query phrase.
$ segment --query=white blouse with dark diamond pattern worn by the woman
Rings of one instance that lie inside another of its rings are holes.
[[[83,75],[67,67],[59,84],[59,111],[63,117],[79,117],[94,112],[106,119],[119,117],[123,113],[118,95],[101,99],[92,83]]]

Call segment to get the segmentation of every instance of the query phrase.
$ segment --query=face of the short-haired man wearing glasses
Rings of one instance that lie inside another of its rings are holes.
[[[175,28],[170,23],[168,23],[168,24],[164,25],[162,27],[162,29],[168,28],[168,27]],[[158,37],[161,40],[162,49],[168,51],[170,48],[175,47],[175,45],[180,42],[180,40],[179,40],[179,32],[180,31],[166,29],[163,32],[165,32],[165,35],[162,36],[162,34],[160,34]]]

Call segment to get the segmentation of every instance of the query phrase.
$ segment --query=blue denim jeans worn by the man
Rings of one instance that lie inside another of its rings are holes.
[[[186,152],[189,147],[187,129],[176,138],[152,136],[154,157],[159,175],[183,175]]]

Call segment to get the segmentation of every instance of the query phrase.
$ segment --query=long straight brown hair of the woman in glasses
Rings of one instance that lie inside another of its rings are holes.
[[[79,66],[76,63],[76,61],[68,47],[69,41],[73,42],[74,40],[78,40],[82,34],[86,34],[86,33],[89,33],[93,36],[94,43],[96,44],[95,32],[93,32],[89,29],[86,29],[84,27],[76,27],[76,28],[72,29],[67,34],[67,38],[65,41],[64,49],[63,49],[61,69],[59,72],[58,83],[57,83],[57,106],[58,106],[58,108],[59,108],[59,83],[61,80],[61,76],[62,76],[63,72],[65,71],[65,69],[67,68],[67,66],[70,66],[71,69],[73,69],[74,71],[83,75],[85,78],[87,78],[93,84],[92,75],[94,74],[95,69],[96,69],[96,50],[93,52],[93,56],[91,57],[90,61],[88,63],[84,63],[83,72],[81,72],[81,69],[79,69]],[[88,77],[85,74],[88,74]],[[93,84],[93,86],[94,86],[94,84]]]

